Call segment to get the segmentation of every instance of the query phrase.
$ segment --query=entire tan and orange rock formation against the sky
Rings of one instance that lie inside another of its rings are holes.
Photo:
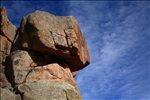
[[[81,100],[76,72],[90,63],[73,16],[35,11],[20,27],[0,9],[1,100]]]

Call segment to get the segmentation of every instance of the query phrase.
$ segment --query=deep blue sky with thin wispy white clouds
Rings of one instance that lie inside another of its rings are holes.
[[[35,10],[73,15],[91,64],[75,80],[83,100],[150,100],[149,1],[2,1],[17,27]]]

